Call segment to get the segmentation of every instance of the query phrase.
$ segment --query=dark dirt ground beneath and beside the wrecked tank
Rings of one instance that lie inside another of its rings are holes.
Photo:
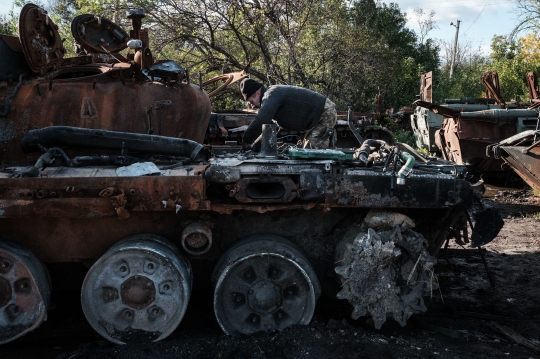
[[[347,303],[323,297],[308,326],[230,337],[203,292],[167,339],[117,346],[90,328],[80,308],[64,308],[78,303],[73,292],[53,298],[49,320],[0,347],[0,358],[540,358],[497,329],[513,329],[540,348],[540,198],[489,186],[486,196],[505,222],[485,246],[494,286],[477,249],[451,246],[435,267],[440,290],[425,299],[428,312],[406,327],[389,321],[375,330],[370,319],[351,320]]]

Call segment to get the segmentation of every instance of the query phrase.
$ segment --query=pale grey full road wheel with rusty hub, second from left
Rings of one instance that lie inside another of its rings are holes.
[[[191,285],[191,265],[174,244],[135,235],[114,244],[90,268],[82,308],[90,325],[113,343],[158,341],[180,324]]]

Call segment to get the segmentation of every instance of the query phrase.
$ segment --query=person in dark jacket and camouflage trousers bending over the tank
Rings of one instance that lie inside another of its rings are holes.
[[[262,132],[262,125],[274,119],[283,128],[305,131],[304,148],[328,148],[330,136],[337,120],[335,104],[325,96],[296,86],[274,85],[265,88],[262,83],[244,79],[240,92],[252,107],[259,111],[242,139],[248,148]]]

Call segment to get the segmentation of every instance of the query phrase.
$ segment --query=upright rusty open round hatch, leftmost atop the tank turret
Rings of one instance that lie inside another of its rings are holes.
[[[19,38],[28,65],[35,73],[44,75],[60,67],[66,49],[58,34],[58,26],[47,11],[26,4],[19,15]]]

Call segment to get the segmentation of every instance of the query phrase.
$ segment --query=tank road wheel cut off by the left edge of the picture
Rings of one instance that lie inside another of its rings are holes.
[[[0,344],[36,329],[47,318],[47,268],[21,245],[0,240]]]

